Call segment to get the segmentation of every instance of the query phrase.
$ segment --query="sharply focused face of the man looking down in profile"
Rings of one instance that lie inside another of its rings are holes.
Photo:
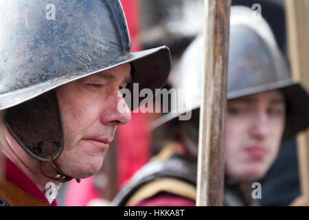
[[[130,64],[124,64],[56,89],[65,131],[56,163],[63,173],[85,178],[100,170],[117,126],[130,121],[130,111],[117,110],[118,102],[125,104],[119,89],[129,81]]]

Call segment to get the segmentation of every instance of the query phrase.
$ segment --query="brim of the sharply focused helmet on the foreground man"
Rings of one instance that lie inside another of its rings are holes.
[[[170,50],[168,47],[162,46],[141,52],[130,52],[125,56],[115,59],[112,63],[104,63],[104,65],[93,67],[92,69],[65,74],[62,77],[52,78],[29,87],[12,89],[12,91],[0,94],[0,110],[13,107],[16,104],[40,96],[47,91],[74,80],[97,74],[125,63],[132,63],[134,69],[133,83],[139,83],[139,90],[149,88],[155,92],[155,89],[163,87],[168,79],[171,68]],[[137,106],[133,107],[133,109],[135,108]]]

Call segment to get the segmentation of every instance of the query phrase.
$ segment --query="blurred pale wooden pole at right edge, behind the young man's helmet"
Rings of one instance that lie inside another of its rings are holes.
[[[293,78],[309,90],[309,1],[286,0],[288,46]],[[309,201],[309,131],[297,137],[301,192]]]

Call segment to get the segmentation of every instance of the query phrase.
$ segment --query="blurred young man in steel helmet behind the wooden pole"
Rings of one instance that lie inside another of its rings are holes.
[[[155,132],[165,129],[170,135],[165,135],[163,150],[133,177],[115,204],[195,205],[201,48],[203,36],[198,36],[170,78],[174,88],[184,89],[183,100],[190,107],[157,122]],[[231,8],[228,87],[224,204],[255,205],[251,184],[266,174],[282,140],[309,126],[309,95],[290,79],[266,21],[254,19],[251,9],[240,6]],[[191,120],[179,121],[188,111]]]

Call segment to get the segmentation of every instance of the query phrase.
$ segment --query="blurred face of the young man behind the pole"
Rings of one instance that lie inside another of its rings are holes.
[[[271,166],[281,144],[286,109],[279,91],[227,102],[226,173],[238,181],[256,181]]]

